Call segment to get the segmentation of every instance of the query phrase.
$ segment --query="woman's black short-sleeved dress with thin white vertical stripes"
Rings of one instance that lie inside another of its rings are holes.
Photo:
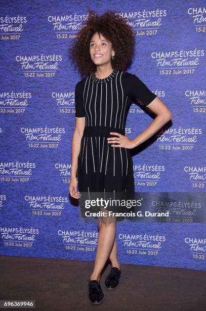
[[[95,73],[75,87],[75,117],[85,117],[86,125],[78,155],[79,204],[98,198],[133,199],[135,191],[131,149],[111,146],[110,132],[125,135],[126,117],[131,99],[149,106],[157,96],[134,74],[113,70],[104,79]],[[90,207],[94,209],[94,207]],[[87,209],[87,208],[86,208]],[[95,206],[95,211],[97,211]],[[119,212],[125,206],[107,206]]]

